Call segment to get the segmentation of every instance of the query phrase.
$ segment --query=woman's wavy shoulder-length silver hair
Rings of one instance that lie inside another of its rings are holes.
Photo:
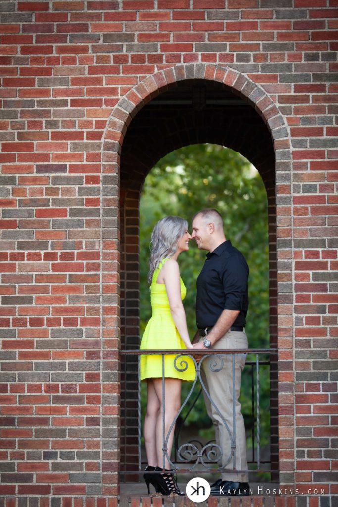
[[[152,283],[154,271],[163,259],[172,257],[177,244],[188,228],[186,220],[180,216],[165,216],[154,227],[151,241],[151,257],[149,259],[148,282]]]

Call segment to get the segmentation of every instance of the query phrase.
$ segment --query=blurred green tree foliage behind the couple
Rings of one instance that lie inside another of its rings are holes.
[[[249,268],[247,335],[250,348],[269,346],[269,249],[268,202],[256,169],[240,154],[217,144],[195,144],[176,150],[160,160],[148,174],[140,200],[140,332],[151,317],[147,284],[149,241],[158,220],[179,215],[189,224],[200,209],[214,207],[222,215],[226,237],[245,256]],[[191,337],[196,332],[196,279],[205,254],[194,240],[178,259],[187,288],[184,308]],[[243,411],[251,412],[250,379],[244,380]],[[269,379],[264,380],[261,402],[269,411]],[[183,386],[183,395],[187,387]],[[185,424],[210,427],[201,397]],[[261,432],[268,429],[268,420]],[[205,432],[205,429],[203,430]],[[207,431],[207,433],[209,433]]]

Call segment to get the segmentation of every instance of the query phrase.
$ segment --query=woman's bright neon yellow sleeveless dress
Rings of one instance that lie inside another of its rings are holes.
[[[157,277],[168,259],[164,259],[160,266],[154,271],[151,291],[151,303],[153,315],[147,323],[144,330],[140,349],[185,349],[185,344],[181,339],[175,322],[170,313],[169,300],[164,283],[157,283]],[[180,278],[181,298],[184,299],[186,288],[182,279]],[[175,369],[174,359],[177,354],[165,354],[164,356],[164,376],[170,378],[181,379],[185,381],[195,380],[196,369],[194,361],[191,357],[181,356],[176,361],[176,366],[183,369],[182,361],[186,361],[188,367],[184,372],[179,372]],[[140,357],[140,378],[146,380],[148,378],[162,378],[162,355],[141,354]]]

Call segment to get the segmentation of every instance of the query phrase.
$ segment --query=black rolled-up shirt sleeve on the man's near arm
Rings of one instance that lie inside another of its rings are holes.
[[[231,256],[222,273],[224,310],[243,310],[247,297],[248,269],[238,256]]]

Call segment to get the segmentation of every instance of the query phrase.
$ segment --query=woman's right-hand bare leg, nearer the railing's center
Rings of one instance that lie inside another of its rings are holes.
[[[156,425],[156,442],[157,442],[157,462],[158,466],[163,467],[163,421],[162,421],[162,379],[153,379],[154,388],[160,405],[160,411]],[[180,379],[165,378],[165,438],[167,437],[169,428],[177,415],[181,406],[181,385]],[[171,454],[171,448],[174,438],[174,429],[172,428],[167,443],[168,456]],[[165,468],[169,469],[168,459],[165,460]]]

